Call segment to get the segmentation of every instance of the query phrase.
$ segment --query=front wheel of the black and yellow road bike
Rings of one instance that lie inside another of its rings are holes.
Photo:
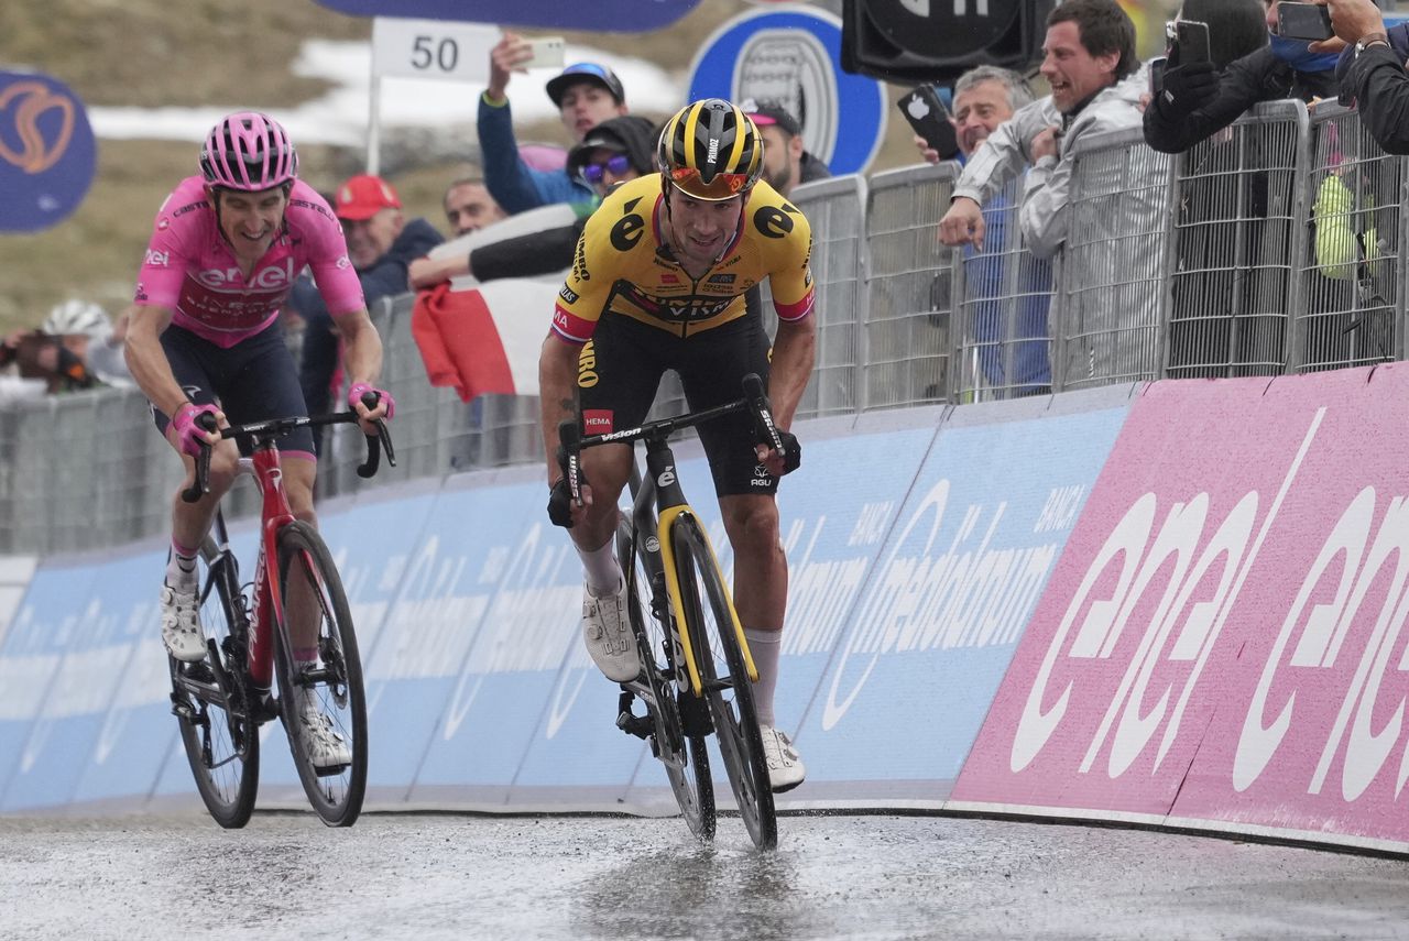
[[[734,609],[699,521],[689,514],[671,528],[681,603],[700,683],[714,720],[728,783],[744,827],[759,849],[778,845],[778,816],[768,782],[768,759],[758,730],[754,690],[738,645]]]

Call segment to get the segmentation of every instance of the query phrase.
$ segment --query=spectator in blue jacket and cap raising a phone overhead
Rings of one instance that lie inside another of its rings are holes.
[[[513,116],[509,111],[509,76],[523,70],[533,56],[527,39],[506,32],[489,54],[489,87],[479,99],[479,149],[485,185],[509,214],[551,203],[573,203],[592,197],[592,189],[564,170],[535,170],[519,152]],[[569,65],[548,82],[548,97],[558,107],[562,125],[578,144],[586,132],[627,113],[626,90],[616,73],[595,62]]]

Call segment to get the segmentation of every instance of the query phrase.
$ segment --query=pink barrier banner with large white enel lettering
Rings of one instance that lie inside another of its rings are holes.
[[[1409,841],[1409,365],[1154,383],[954,787]]]

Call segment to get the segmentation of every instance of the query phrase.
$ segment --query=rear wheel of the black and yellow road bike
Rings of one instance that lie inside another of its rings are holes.
[[[647,703],[655,724],[655,756],[665,765],[671,793],[675,794],[675,803],[679,806],[681,816],[690,833],[702,841],[710,841],[716,831],[716,810],[709,749],[702,733],[688,734],[685,730],[681,713],[682,703],[676,697],[676,669],[671,638],[661,621],[651,613],[650,603],[643,597],[641,586],[650,586],[651,572],[645,558],[633,548],[633,541],[631,523],[623,517],[617,525],[617,558],[635,559],[633,566],[635,578],[631,578],[633,572],[626,573],[627,613],[641,662],[647,665],[644,671],[645,685],[655,703],[655,706]]]

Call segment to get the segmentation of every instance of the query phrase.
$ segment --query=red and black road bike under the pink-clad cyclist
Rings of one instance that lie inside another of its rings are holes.
[[[364,404],[376,407],[376,394]],[[214,431],[214,417],[203,424]],[[172,713],[180,723],[186,759],[196,789],[221,827],[244,827],[259,787],[259,725],[283,721],[299,780],[314,811],[333,827],[348,827],[362,811],[366,790],[366,702],[356,635],[342,582],[327,545],[310,524],[296,520],[283,487],[275,441],[294,428],[355,423],[356,414],[273,418],[220,430],[221,438],[252,442],[241,472],[252,473],[261,496],[259,548],[254,582],[241,583],[221,510],[201,547],[200,618],[206,659],[187,663],[168,656]],[[396,454],[386,425],[366,438],[368,456],[358,475],[371,478],[386,452]],[[196,479],[182,492],[199,500],[207,487],[210,448],[196,459]],[[317,621],[317,627],[313,621]],[[304,658],[294,659],[294,651]],[[316,649],[316,659],[307,659]],[[272,683],[278,679],[278,699]],[[351,761],[316,766],[309,731],[296,706],[313,697],[327,730],[351,749]]]

